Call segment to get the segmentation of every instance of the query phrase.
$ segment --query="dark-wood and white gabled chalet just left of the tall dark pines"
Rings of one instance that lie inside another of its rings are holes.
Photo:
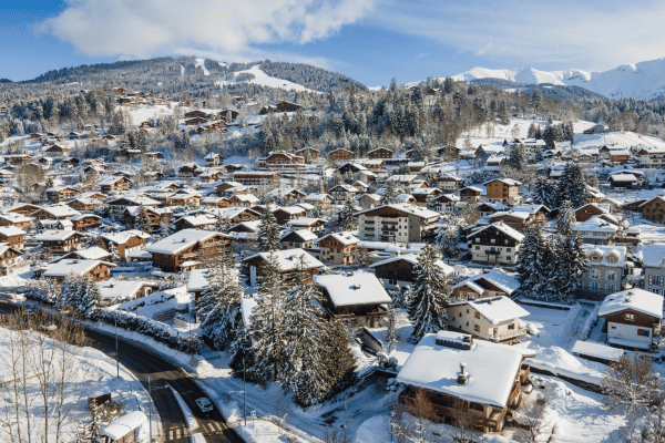
[[[514,266],[524,235],[499,222],[467,236],[473,262]]]

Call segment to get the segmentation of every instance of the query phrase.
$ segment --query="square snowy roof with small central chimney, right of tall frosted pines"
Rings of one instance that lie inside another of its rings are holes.
[[[390,303],[392,299],[374,274],[356,271],[316,276],[336,307]]]

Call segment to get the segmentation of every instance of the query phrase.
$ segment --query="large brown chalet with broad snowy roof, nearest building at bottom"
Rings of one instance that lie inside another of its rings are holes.
[[[398,402],[413,406],[423,395],[438,421],[501,432],[509,409],[522,401],[530,373],[526,348],[509,347],[453,331],[428,333],[397,374],[407,389]]]

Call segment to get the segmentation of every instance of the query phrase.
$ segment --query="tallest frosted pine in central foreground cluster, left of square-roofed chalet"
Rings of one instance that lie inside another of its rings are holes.
[[[284,301],[284,383],[298,403],[318,403],[330,391],[331,380],[326,368],[326,351],[321,341],[324,311],[321,295],[308,279],[305,257],[298,258],[299,284]]]

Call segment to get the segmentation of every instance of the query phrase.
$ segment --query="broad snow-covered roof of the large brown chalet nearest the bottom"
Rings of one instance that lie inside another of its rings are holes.
[[[524,357],[520,348],[474,340],[471,349],[464,350],[438,341],[462,344],[464,334],[452,331],[426,334],[397,374],[397,381],[469,402],[507,406]],[[460,363],[466,364],[466,384],[458,384]]]

